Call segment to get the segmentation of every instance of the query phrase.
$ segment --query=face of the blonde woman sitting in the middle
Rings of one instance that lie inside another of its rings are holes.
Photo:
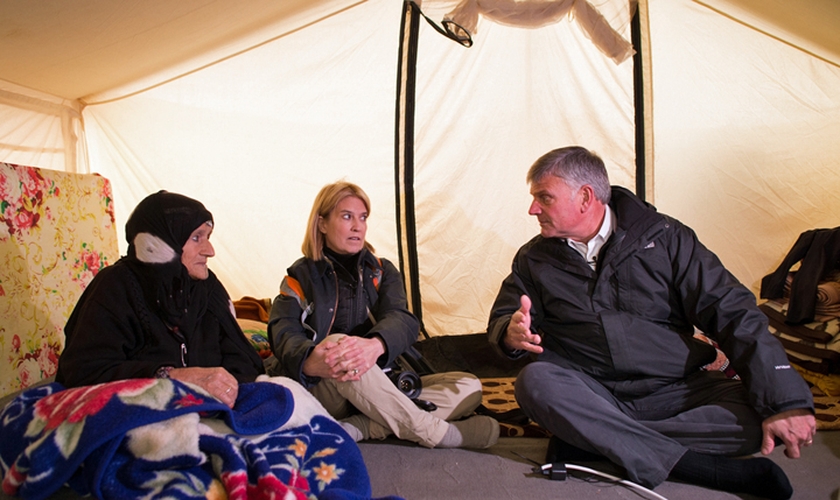
[[[318,220],[318,230],[324,234],[327,247],[337,254],[352,255],[365,247],[367,208],[355,197],[347,196],[335,209]]]

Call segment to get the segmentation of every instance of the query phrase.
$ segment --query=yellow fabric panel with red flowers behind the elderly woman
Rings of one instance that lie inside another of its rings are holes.
[[[64,324],[119,258],[111,183],[0,163],[0,396],[55,375]]]

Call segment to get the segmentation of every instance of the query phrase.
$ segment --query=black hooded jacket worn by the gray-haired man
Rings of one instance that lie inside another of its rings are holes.
[[[546,349],[632,398],[714,359],[693,337],[696,326],[719,343],[762,416],[812,406],[755,296],[690,228],[624,188],[613,188],[610,206],[616,227],[597,272],[564,239],[537,236],[519,250],[493,305],[492,344],[527,294],[531,327]]]

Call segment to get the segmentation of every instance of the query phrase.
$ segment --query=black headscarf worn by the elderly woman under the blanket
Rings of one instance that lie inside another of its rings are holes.
[[[149,308],[176,334],[187,336],[207,309],[204,280],[190,278],[181,263],[184,244],[213,215],[201,202],[159,191],[141,201],[125,225],[128,256]]]

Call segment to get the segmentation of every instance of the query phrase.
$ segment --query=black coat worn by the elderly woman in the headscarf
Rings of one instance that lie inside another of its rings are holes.
[[[99,271],[64,329],[66,342],[56,381],[67,387],[129,378],[148,378],[162,366],[217,367],[239,382],[263,373],[256,350],[230,308],[230,297],[216,276],[207,278],[207,309],[197,328],[181,339],[152,312],[134,273],[118,261]]]

